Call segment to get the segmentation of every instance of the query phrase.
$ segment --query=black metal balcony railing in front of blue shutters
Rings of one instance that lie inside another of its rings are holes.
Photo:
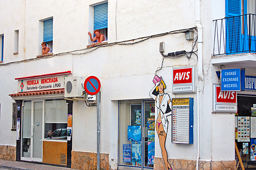
[[[215,23],[213,55],[256,52],[256,15],[244,14]]]

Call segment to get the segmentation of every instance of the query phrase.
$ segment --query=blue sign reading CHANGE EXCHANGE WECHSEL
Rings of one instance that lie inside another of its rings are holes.
[[[245,88],[245,69],[221,69],[221,91],[243,91]]]

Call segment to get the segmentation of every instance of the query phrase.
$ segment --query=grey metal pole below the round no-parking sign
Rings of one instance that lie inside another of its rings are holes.
[[[97,170],[100,170],[100,96],[97,93]]]

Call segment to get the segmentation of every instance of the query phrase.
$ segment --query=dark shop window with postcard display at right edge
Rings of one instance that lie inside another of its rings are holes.
[[[244,167],[255,169],[256,166],[252,164],[256,161],[256,96],[237,96],[235,140]],[[236,153],[235,159],[238,162]]]

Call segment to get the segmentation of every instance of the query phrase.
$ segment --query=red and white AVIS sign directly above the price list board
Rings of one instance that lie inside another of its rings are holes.
[[[195,92],[195,67],[181,67],[172,69],[172,92]]]

